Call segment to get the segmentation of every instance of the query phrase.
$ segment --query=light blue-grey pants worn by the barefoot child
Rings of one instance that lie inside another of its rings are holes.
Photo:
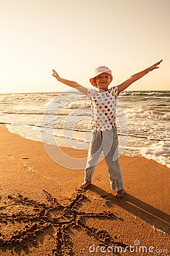
[[[116,188],[117,190],[124,189],[122,172],[120,169],[120,164],[118,163],[118,139],[116,128],[109,131],[92,131],[92,139],[90,148],[88,150],[84,182],[92,180],[96,164],[102,160],[102,151],[108,165],[111,189],[113,191],[115,191]]]

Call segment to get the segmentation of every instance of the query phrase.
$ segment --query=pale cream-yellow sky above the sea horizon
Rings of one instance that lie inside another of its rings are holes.
[[[170,90],[169,0],[0,0],[0,93],[90,86],[96,67],[112,85],[163,59],[128,90]]]

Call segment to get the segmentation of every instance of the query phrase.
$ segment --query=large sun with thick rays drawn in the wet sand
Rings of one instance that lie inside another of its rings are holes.
[[[100,246],[126,246],[122,242],[115,241],[115,238],[112,238],[106,230],[91,228],[86,224],[87,218],[111,218],[112,220],[121,220],[121,218],[118,218],[112,212],[86,213],[81,211],[80,205],[87,199],[83,189],[78,189],[76,195],[66,205],[61,205],[49,192],[45,190],[43,192],[46,195],[46,204],[28,199],[28,197],[23,197],[20,194],[18,196],[8,196],[8,199],[16,207],[24,205],[24,211],[22,210],[23,208],[20,210],[16,208],[17,210],[11,215],[2,211],[0,216],[1,223],[7,225],[19,222],[24,225],[23,228],[13,230],[11,234],[0,233],[0,249],[2,251],[7,250],[9,247],[16,249],[25,245],[29,247],[29,245],[35,244],[38,246],[37,237],[44,236],[43,233],[50,227],[54,230],[55,239],[48,255],[75,255],[73,243],[69,237],[70,228],[86,232]],[[32,209],[31,212],[30,208]]]

